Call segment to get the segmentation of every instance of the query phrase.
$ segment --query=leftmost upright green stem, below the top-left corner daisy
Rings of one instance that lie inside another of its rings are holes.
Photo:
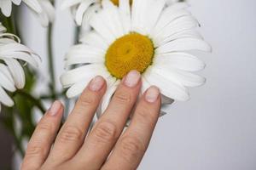
[[[47,33],[47,48],[48,48],[48,65],[49,65],[49,76],[50,76],[50,93],[52,95],[53,100],[56,99],[55,95],[55,67],[54,67],[54,57],[52,50],[52,30],[53,25],[49,23],[48,33]]]

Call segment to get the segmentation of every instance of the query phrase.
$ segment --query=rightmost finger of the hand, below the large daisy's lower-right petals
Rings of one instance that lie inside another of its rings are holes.
[[[137,105],[130,127],[120,137],[102,169],[137,169],[148,148],[159,114],[160,91],[155,87],[148,88]]]

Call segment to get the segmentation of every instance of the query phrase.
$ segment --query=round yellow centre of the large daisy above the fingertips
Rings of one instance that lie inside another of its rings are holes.
[[[105,64],[113,77],[121,79],[131,70],[143,73],[152,64],[153,57],[153,42],[141,34],[130,33],[111,44]]]

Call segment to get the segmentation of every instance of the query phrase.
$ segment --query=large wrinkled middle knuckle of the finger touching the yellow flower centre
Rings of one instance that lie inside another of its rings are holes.
[[[112,122],[99,123],[95,129],[96,142],[108,143],[116,139],[116,126]]]

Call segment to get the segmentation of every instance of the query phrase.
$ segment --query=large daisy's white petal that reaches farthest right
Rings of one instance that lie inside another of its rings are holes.
[[[189,51],[189,50],[201,50],[205,52],[211,52],[212,48],[207,42],[201,39],[195,38],[181,38],[172,42],[167,42],[165,45],[156,48],[156,54],[166,54],[170,52]]]

